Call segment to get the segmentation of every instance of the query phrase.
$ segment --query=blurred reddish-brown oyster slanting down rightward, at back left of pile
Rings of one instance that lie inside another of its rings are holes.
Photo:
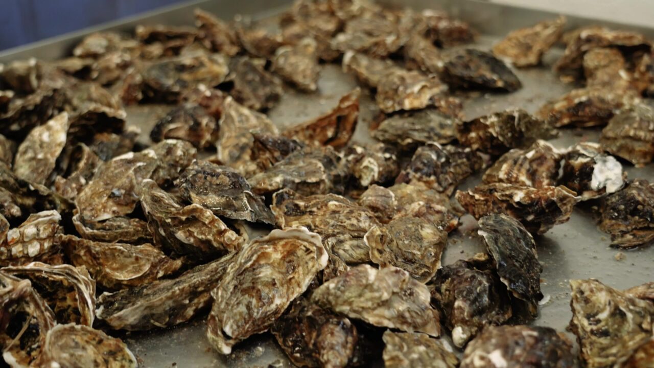
[[[201,42],[210,50],[234,56],[241,50],[236,32],[213,14],[201,9],[195,10],[196,25],[204,34]]]

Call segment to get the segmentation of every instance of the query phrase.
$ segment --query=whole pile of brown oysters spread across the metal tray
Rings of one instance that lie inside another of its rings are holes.
[[[628,181],[621,164],[654,157],[648,39],[563,33],[557,18],[479,50],[443,12],[365,0],[298,0],[274,30],[203,10],[196,20],[94,33],[70,58],[0,65],[8,365],[135,367],[107,333],[207,310],[219,354],[269,331],[298,366],[575,364],[564,334],[513,317],[538,316],[543,299],[534,235],[579,202],[599,201],[614,246],[654,239],[654,185]],[[467,91],[518,90],[511,68],[540,65],[559,42],[555,72],[583,87],[536,115],[464,119]],[[360,88],[324,115],[275,126],[266,111],[290,88],[318,93],[324,63]],[[379,110],[369,145],[351,142],[362,94]],[[171,106],[151,144],[126,124],[136,103]],[[571,124],[604,126],[599,143],[547,142]],[[485,252],[442,267],[466,212]],[[651,367],[654,284],[570,285],[583,364]]]

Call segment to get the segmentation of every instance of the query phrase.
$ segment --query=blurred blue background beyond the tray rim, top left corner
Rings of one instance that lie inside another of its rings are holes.
[[[181,0],[0,0],[0,50]]]

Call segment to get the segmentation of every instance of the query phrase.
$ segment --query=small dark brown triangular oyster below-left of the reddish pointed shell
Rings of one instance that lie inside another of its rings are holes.
[[[296,139],[282,136],[252,133],[252,138],[254,138],[254,145],[252,145],[250,159],[256,162],[256,166],[262,172],[305,147],[304,143]]]

